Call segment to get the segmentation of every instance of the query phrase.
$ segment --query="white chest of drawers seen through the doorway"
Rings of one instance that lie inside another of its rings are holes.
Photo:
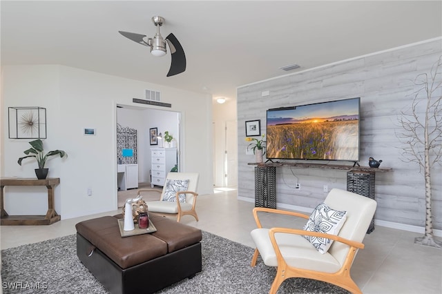
[[[166,176],[177,164],[177,148],[151,148],[151,187],[164,186]]]

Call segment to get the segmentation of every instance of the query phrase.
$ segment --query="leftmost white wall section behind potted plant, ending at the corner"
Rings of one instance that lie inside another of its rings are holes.
[[[21,81],[26,81],[22,83]],[[15,84],[17,82],[17,84]],[[46,122],[48,137],[57,138],[63,133],[62,128],[57,128],[59,121],[59,67],[40,66],[28,68],[16,66],[6,73],[6,66],[2,67],[1,79],[1,176],[19,176],[35,178],[37,162],[24,159],[22,166],[17,164],[17,159],[23,157],[24,150],[31,146],[23,139],[8,139],[8,107],[12,106],[41,106],[46,108]],[[14,87],[9,85],[15,84]],[[6,99],[6,97],[9,97]],[[8,142],[8,144],[5,144]],[[58,144],[58,140],[45,140],[46,150],[66,149],[66,145]],[[49,159],[46,167],[50,168],[48,177],[61,177],[55,175],[55,170],[61,172],[60,166],[63,159]],[[61,185],[55,187],[55,209],[59,213]],[[5,187],[4,205],[9,215],[46,215],[48,210],[48,194],[46,187]],[[31,196],[30,196],[31,195]],[[14,205],[12,205],[14,204]],[[43,204],[43,206],[42,206]]]

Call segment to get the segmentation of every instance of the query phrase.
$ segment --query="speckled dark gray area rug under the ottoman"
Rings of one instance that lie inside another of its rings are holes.
[[[269,293],[276,274],[253,248],[203,231],[202,272],[158,293]],[[1,251],[3,293],[108,293],[76,253],[75,235]],[[13,289],[15,287],[15,289]],[[301,278],[282,283],[278,293],[348,293],[343,288]]]

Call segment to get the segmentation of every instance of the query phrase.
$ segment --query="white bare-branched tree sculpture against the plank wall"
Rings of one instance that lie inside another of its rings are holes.
[[[398,121],[403,133],[398,135],[405,147],[403,161],[419,164],[425,178],[425,235],[416,237],[414,244],[442,248],[442,242],[433,237],[431,169],[441,163],[442,157],[442,56],[429,73],[418,75],[414,84],[418,89],[410,108],[401,112]]]

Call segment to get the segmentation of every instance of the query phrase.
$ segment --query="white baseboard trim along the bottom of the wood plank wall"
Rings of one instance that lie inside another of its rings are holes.
[[[238,196],[238,200],[255,203],[255,199],[254,198]],[[311,211],[313,210],[313,208],[308,208],[308,207],[303,207],[303,206],[296,206],[296,205],[291,205],[291,204],[278,203],[278,202],[276,203],[276,208],[284,208],[284,209],[288,209],[288,210],[296,210],[296,211],[300,211],[302,213],[311,213]],[[379,219],[374,219],[374,224],[376,224],[377,226],[385,226],[386,228],[395,228],[397,230],[402,230],[402,231],[421,233],[421,234],[425,233],[425,228],[423,226],[412,226],[410,224],[400,224],[400,223],[397,223],[397,222],[387,222],[387,221],[383,221],[383,220],[379,220]],[[436,237],[442,237],[442,230],[433,229],[433,234]]]

